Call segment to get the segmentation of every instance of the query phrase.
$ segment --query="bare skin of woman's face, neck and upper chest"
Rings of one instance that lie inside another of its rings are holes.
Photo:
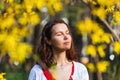
[[[71,35],[67,26],[63,23],[58,23],[52,27],[51,39],[48,40],[52,46],[54,61],[56,66],[51,67],[49,71],[56,80],[69,80],[72,69],[72,62],[66,58],[66,50],[71,47]]]

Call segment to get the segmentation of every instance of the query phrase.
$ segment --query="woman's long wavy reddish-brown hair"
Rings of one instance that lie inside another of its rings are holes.
[[[52,47],[51,45],[49,45],[46,42],[46,38],[48,40],[51,39],[51,34],[52,34],[52,27],[55,24],[58,23],[64,23],[68,29],[69,29],[69,25],[66,24],[64,22],[64,20],[62,19],[55,19],[55,20],[51,20],[49,21],[45,27],[42,30],[42,36],[41,36],[41,44],[38,48],[38,54],[40,55],[41,61],[47,66],[50,67],[50,65],[54,62],[53,61],[53,52],[52,52]],[[70,31],[70,29],[69,29]],[[71,34],[71,31],[70,31]],[[72,34],[71,34],[72,37]],[[72,39],[72,43],[71,43],[71,48],[69,50],[66,51],[66,57],[68,60],[72,61],[72,60],[77,60],[76,56],[75,56],[75,50],[74,50],[74,44],[73,44],[73,39]]]

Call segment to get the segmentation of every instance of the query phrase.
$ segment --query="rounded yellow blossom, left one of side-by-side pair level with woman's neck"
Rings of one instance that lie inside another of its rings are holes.
[[[86,53],[88,55],[91,55],[92,57],[96,56],[96,47],[94,45],[88,45],[86,46]]]

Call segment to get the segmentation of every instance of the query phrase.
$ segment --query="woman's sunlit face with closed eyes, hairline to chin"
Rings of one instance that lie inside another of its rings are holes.
[[[53,50],[65,51],[71,47],[71,35],[64,23],[55,24],[52,27],[50,45]]]

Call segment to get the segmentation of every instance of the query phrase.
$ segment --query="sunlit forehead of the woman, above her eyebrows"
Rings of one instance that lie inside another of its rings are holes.
[[[52,27],[53,32],[66,31],[66,30],[68,30],[68,27],[64,23],[58,23]]]

